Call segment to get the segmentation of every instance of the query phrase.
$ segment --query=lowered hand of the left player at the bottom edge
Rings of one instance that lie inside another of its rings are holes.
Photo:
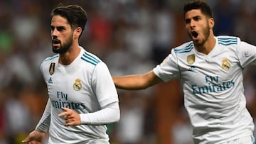
[[[40,144],[43,142],[43,138],[45,137],[46,133],[43,133],[41,131],[32,131],[29,133],[28,137],[25,138],[25,140],[22,140],[22,143],[28,143],[28,144]]]

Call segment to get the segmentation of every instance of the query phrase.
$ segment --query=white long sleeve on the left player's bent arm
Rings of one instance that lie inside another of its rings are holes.
[[[93,113],[80,114],[81,123],[101,125],[119,121],[119,100],[111,74],[104,62],[100,62],[92,76],[92,87],[99,101],[100,109]]]

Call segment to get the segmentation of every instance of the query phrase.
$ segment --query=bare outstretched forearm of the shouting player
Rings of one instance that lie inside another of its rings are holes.
[[[151,87],[159,82],[162,82],[159,77],[154,74],[153,71],[147,72],[145,74],[133,74],[122,77],[112,77],[114,80],[114,85],[118,89],[127,90],[139,90]]]

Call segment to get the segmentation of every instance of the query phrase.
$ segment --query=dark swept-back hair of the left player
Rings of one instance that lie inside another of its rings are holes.
[[[66,18],[71,28],[75,29],[77,27],[82,28],[82,32],[85,29],[85,24],[87,22],[87,13],[81,6],[78,5],[68,5],[63,6],[59,4],[55,9],[53,9],[51,16],[62,16]]]

